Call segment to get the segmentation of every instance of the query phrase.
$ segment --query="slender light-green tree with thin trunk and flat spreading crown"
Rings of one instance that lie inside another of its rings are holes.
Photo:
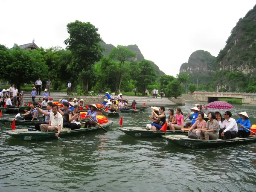
[[[135,52],[126,47],[123,47],[122,45],[118,45],[116,48],[111,50],[109,58],[119,61],[118,82],[116,90],[120,91],[122,80],[125,76],[125,73],[127,72],[128,66],[125,65],[125,61],[127,61],[128,58],[135,57],[136,55],[137,54]]]

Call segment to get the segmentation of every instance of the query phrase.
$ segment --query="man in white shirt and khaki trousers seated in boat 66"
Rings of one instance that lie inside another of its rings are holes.
[[[58,112],[58,105],[52,105],[52,112],[50,113],[49,124],[42,124],[41,131],[43,132],[55,132],[58,131],[55,136],[58,136],[62,131],[63,118],[61,113]]]

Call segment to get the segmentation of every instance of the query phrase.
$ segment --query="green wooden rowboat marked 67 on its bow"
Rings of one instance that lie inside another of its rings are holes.
[[[152,131],[152,130],[147,130],[141,127],[123,127],[118,129],[124,132],[125,134],[128,134],[132,137],[137,137],[137,138],[156,138],[156,137],[162,137],[162,135],[165,135],[165,134],[187,135],[189,130],[189,129],[185,129],[184,132],[180,130],[175,130],[175,131],[167,130],[167,133],[165,133],[164,131]]]

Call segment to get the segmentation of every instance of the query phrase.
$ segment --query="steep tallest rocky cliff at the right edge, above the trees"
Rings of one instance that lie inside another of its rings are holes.
[[[217,70],[256,72],[256,6],[240,18],[217,57]]]

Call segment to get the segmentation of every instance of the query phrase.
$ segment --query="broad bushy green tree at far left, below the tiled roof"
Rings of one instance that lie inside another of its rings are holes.
[[[1,77],[15,84],[18,90],[24,83],[44,78],[48,72],[44,57],[38,50],[20,49],[17,44],[13,50],[0,46],[0,55]]]

